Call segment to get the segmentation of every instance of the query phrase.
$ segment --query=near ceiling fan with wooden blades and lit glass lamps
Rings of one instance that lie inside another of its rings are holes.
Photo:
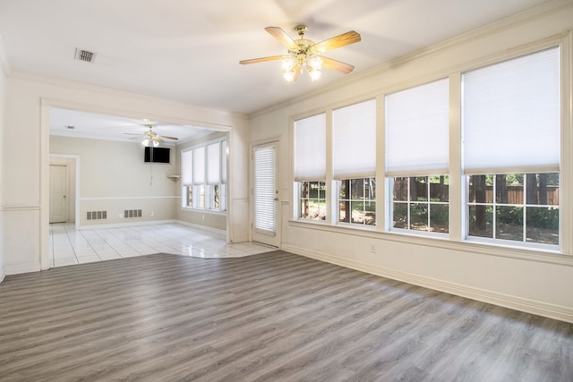
[[[266,61],[282,60],[282,68],[284,71],[283,78],[288,82],[296,81],[298,76],[301,72],[304,72],[304,70],[309,73],[311,80],[315,81],[321,77],[322,67],[344,74],[352,72],[355,68],[351,64],[345,64],[322,55],[322,53],[336,49],[337,47],[344,47],[360,41],[360,34],[354,30],[350,30],[316,44],[310,39],[304,38],[304,35],[308,31],[308,27],[306,25],[298,25],[295,27],[295,30],[300,37],[298,39],[290,38],[284,30],[278,27],[267,27],[265,30],[287,47],[288,52],[286,55],[271,55],[269,57],[253,58],[251,60],[239,61],[239,64],[256,64],[264,63]]]

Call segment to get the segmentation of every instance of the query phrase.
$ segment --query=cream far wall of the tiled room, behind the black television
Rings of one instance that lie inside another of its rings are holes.
[[[176,187],[168,176],[176,172],[176,149],[170,164],[144,163],[143,149],[138,142],[50,136],[50,154],[79,157],[81,227],[175,218]],[[141,217],[126,217],[125,209],[141,209]],[[107,211],[107,218],[87,220],[88,211]]]

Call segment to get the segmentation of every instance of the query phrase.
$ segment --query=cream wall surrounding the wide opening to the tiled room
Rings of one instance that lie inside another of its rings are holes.
[[[229,132],[229,239],[248,239],[248,120],[165,99],[58,81],[26,73],[6,77],[4,118],[4,268],[6,274],[47,268],[50,107],[191,124]],[[82,194],[83,191],[81,191]],[[237,213],[235,214],[235,211]]]

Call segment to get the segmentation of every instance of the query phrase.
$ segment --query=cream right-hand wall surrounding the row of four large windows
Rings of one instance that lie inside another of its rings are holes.
[[[459,81],[462,71],[543,47],[549,40],[565,41],[564,62],[569,63],[571,40],[568,33],[571,28],[573,2],[552,2],[535,12],[522,13],[450,39],[416,55],[382,65],[365,74],[351,76],[337,86],[321,89],[309,97],[252,115],[252,142],[261,143],[280,137],[279,182],[291,185],[287,189],[281,188],[279,195],[283,216],[281,248],[412,284],[573,322],[571,230],[562,233],[565,253],[555,254],[464,242],[461,230],[454,226],[451,230],[457,232],[452,234],[453,240],[442,241],[385,233],[382,227],[377,232],[366,232],[295,222],[292,220],[292,148],[289,143],[289,121],[293,116],[321,112],[373,97],[378,97],[379,105],[382,105],[383,95],[390,91],[448,75],[453,75]],[[570,93],[571,66],[570,63],[568,65],[563,80]],[[567,104],[565,108],[568,108]],[[452,118],[455,120],[459,113],[453,112]],[[565,116],[561,217],[563,226],[570,227],[573,171],[568,158],[572,145],[569,136],[570,115],[566,112]],[[382,126],[379,132],[382,132]],[[379,139],[381,142],[383,140]],[[383,153],[379,157],[379,163],[383,163]],[[384,176],[383,167],[379,168],[377,175],[379,178]],[[459,179],[460,175],[457,176]],[[381,194],[380,189],[378,193]],[[451,203],[450,208],[460,212],[461,203]],[[372,253],[372,246],[375,253]]]

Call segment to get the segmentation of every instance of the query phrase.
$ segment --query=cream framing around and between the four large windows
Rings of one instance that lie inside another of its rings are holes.
[[[410,242],[411,240],[423,245],[437,245],[440,247],[446,246],[449,248],[457,249],[471,249],[477,245],[485,245],[483,248],[488,248],[488,251],[500,255],[510,255],[510,257],[517,257],[522,259],[523,256],[534,255],[535,259],[538,254],[543,257],[552,256],[552,254],[571,254],[573,255],[573,235],[569,234],[569,227],[573,223],[573,219],[569,218],[572,213],[573,206],[563,204],[563,200],[567,201],[570,198],[571,187],[569,187],[568,180],[571,178],[569,172],[573,166],[569,162],[564,161],[564,156],[569,157],[569,146],[573,142],[573,133],[569,133],[571,125],[571,115],[567,106],[569,105],[569,36],[564,34],[555,36],[554,38],[546,38],[532,42],[525,46],[516,47],[511,51],[503,51],[497,55],[489,55],[480,60],[474,60],[466,64],[460,64],[455,68],[444,68],[442,71],[428,73],[423,76],[416,77],[412,80],[396,82],[389,84],[381,90],[377,90],[373,96],[377,100],[377,164],[376,164],[376,177],[379,180],[377,190],[377,225],[375,229],[372,227],[363,227],[360,225],[345,225],[338,224],[338,184],[332,176],[332,111],[338,107],[349,106],[353,103],[360,102],[372,98],[372,93],[361,98],[352,98],[345,101],[340,101],[336,104],[331,104],[326,107],[318,107],[312,111],[305,112],[300,115],[291,115],[290,128],[291,128],[291,153],[294,153],[295,140],[293,139],[294,122],[307,115],[316,115],[318,113],[326,113],[327,115],[327,177],[326,186],[331,192],[327,193],[327,210],[329,216],[326,221],[321,222],[321,229],[331,231],[334,233],[347,233],[347,230],[353,229],[358,235],[364,237],[371,237],[381,239],[387,237],[389,240],[397,240]],[[560,49],[560,245],[559,248],[539,248],[535,243],[527,242],[525,245],[515,245],[514,242],[483,242],[467,239],[467,211],[466,211],[466,175],[463,174],[463,137],[462,137],[462,112],[461,112],[461,94],[462,94],[462,74],[467,71],[479,69],[480,67],[498,64],[503,61],[511,60],[522,55],[529,55],[536,52],[543,51],[557,47]],[[393,196],[392,188],[389,187],[390,179],[386,177],[382,168],[385,168],[386,158],[382,148],[385,146],[385,105],[384,97],[393,92],[403,89],[413,88],[415,86],[423,85],[432,81],[449,78],[449,233],[410,233],[406,230],[392,230],[391,225],[391,199]],[[292,157],[291,157],[292,159]],[[291,162],[293,165],[294,162]],[[292,167],[291,167],[292,168]],[[294,178],[291,178],[294,180]],[[291,217],[289,223],[304,227],[305,225],[316,223],[300,220],[298,216],[297,199],[299,185],[292,182],[291,197],[295,206],[291,208]],[[573,183],[571,183],[573,185]],[[300,224],[300,225],[299,225]],[[366,228],[371,228],[370,230]],[[356,231],[357,230],[357,231]],[[362,231],[362,233],[360,233]],[[366,232],[371,231],[371,232]],[[387,236],[388,235],[388,236]],[[390,238],[391,237],[391,238]],[[555,259],[558,259],[557,257]]]

